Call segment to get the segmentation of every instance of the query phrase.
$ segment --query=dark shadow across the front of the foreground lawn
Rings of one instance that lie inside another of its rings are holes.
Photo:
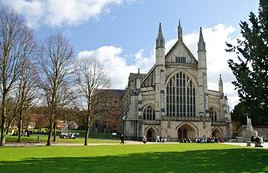
[[[268,150],[224,149],[0,162],[1,173],[268,172]]]

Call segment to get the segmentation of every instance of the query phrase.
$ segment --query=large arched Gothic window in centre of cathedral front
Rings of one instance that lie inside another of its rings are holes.
[[[196,90],[192,80],[180,72],[167,83],[167,116],[194,117],[196,114]]]

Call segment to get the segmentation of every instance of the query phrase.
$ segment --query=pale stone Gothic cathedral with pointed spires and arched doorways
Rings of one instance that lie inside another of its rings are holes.
[[[154,141],[161,136],[167,141],[181,141],[231,137],[231,117],[221,76],[217,91],[207,88],[202,28],[197,44],[196,59],[183,42],[179,24],[178,39],[166,52],[159,24],[155,64],[147,74],[130,73],[123,96],[123,131],[128,139],[146,136],[148,141]]]

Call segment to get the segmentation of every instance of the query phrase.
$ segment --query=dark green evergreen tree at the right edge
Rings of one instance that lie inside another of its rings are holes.
[[[250,23],[250,24],[249,24]],[[268,124],[268,1],[260,0],[259,13],[250,13],[249,23],[240,23],[243,39],[227,43],[237,60],[228,60],[236,81],[232,82],[243,102],[244,115],[256,124]],[[245,118],[245,117],[244,117]]]

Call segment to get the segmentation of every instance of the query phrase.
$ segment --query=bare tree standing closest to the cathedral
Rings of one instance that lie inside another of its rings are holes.
[[[84,145],[88,145],[89,130],[96,118],[95,115],[97,115],[93,112],[97,105],[96,92],[98,89],[108,87],[110,80],[100,63],[90,57],[85,57],[78,62],[77,77],[81,108],[83,109],[86,126]]]

